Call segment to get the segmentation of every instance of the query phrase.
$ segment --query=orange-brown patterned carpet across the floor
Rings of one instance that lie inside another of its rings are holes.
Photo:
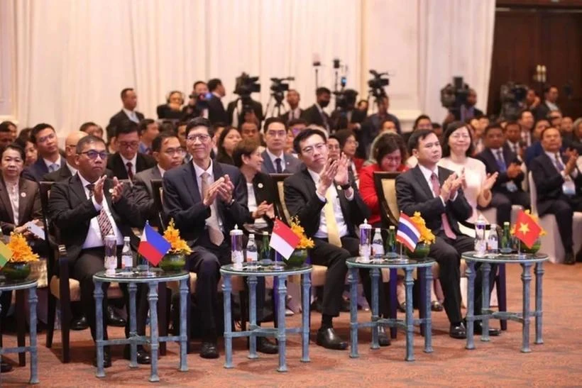
[[[415,336],[416,361],[405,362],[405,339],[402,333],[389,348],[370,350],[370,335],[361,330],[361,357],[351,359],[346,351],[331,351],[310,346],[311,362],[300,362],[300,339],[287,340],[289,372],[276,371],[278,358],[261,355],[258,360],[246,358],[245,340],[234,340],[233,370],[223,367],[224,352],[219,360],[203,360],[197,353],[188,356],[189,372],[178,372],[178,347],[168,345],[168,355],[160,359],[160,385],[205,387],[356,387],[431,385],[454,386],[575,386],[582,384],[582,264],[573,267],[547,264],[544,276],[544,345],[533,345],[532,353],[520,353],[521,326],[509,323],[508,331],[490,343],[476,337],[476,350],[465,350],[465,342],[446,334],[448,321],[444,312],[433,314],[434,353],[422,352],[422,338]],[[521,310],[520,267],[510,265],[508,271],[508,306]],[[532,282],[533,284],[533,282]],[[533,299],[533,298],[532,298]],[[533,300],[532,300],[533,306]],[[369,313],[360,312],[361,320]],[[312,316],[314,327],[319,326],[319,314]],[[289,326],[299,323],[300,315],[287,318]],[[337,331],[348,337],[348,314],[336,319]],[[498,327],[498,323],[495,323]],[[312,329],[312,333],[314,333]],[[532,342],[534,329],[531,330]],[[122,336],[120,328],[110,329],[110,337]],[[314,338],[314,336],[312,336]],[[15,338],[5,336],[5,345],[15,345]],[[128,369],[122,349],[114,348],[113,366],[106,377],[97,379],[91,362],[94,348],[89,331],[74,332],[71,338],[72,362],[62,364],[60,333],[55,333],[53,349],[44,347],[45,335],[39,336],[40,386],[42,387],[140,387],[148,386],[148,367]],[[222,344],[220,344],[222,346]],[[199,343],[193,343],[194,352]],[[221,350],[224,348],[221,348]],[[15,355],[8,357],[16,361]],[[1,387],[21,387],[28,382],[29,368],[15,367],[2,375]]]

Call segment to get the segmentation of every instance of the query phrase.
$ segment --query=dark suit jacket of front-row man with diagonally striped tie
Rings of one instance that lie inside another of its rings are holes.
[[[139,240],[131,228],[142,228],[143,221],[138,207],[133,200],[133,194],[128,184],[124,185],[121,199],[113,204],[109,189],[113,180],[106,179],[103,187],[104,199],[107,201],[111,216],[123,236],[131,238],[131,244],[137,247]],[[69,260],[74,262],[81,253],[83,243],[87,238],[91,219],[99,216],[93,201],[87,199],[79,174],[61,182],[56,182],[50,188],[48,201],[50,221],[58,228],[60,242],[65,244]]]

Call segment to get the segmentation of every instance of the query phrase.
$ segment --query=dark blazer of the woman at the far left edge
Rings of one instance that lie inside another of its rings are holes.
[[[21,178],[18,181],[18,224],[15,224],[6,183],[0,177],[0,227],[4,235],[9,235],[16,226],[23,226],[28,221],[42,218],[38,183]]]

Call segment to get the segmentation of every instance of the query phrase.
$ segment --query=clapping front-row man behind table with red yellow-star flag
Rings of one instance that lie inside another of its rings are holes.
[[[449,336],[466,338],[466,328],[461,316],[461,254],[473,250],[473,238],[463,235],[457,220],[466,220],[473,212],[463,195],[463,176],[437,163],[442,150],[439,138],[432,130],[419,129],[410,135],[408,149],[417,158],[416,167],[396,178],[398,208],[412,216],[419,211],[427,227],[437,240],[430,245],[430,257],[439,263],[439,279],[444,292],[444,310],[451,326]],[[495,269],[491,270],[490,284],[493,284]],[[481,311],[481,273],[477,274],[475,286],[475,311]],[[481,334],[481,321],[476,323],[475,332]],[[490,336],[498,336],[499,331],[489,329]]]

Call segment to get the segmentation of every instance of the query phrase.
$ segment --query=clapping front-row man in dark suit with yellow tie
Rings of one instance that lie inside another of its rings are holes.
[[[324,348],[344,350],[348,344],[334,331],[332,319],[339,316],[341,294],[348,268],[346,260],[358,256],[360,240],[356,225],[369,217],[355,182],[350,182],[348,160],[328,158],[325,134],[317,129],[306,129],[295,137],[293,146],[304,166],[300,172],[285,179],[285,204],[291,215],[299,218],[307,237],[314,241],[309,255],[314,264],[327,267],[322,304],[322,326],[317,331],[317,344]],[[360,276],[366,295],[370,295],[368,271]],[[380,294],[380,312],[388,316],[383,294]],[[369,297],[368,297],[369,300]],[[389,345],[390,339],[380,329],[380,345]]]

